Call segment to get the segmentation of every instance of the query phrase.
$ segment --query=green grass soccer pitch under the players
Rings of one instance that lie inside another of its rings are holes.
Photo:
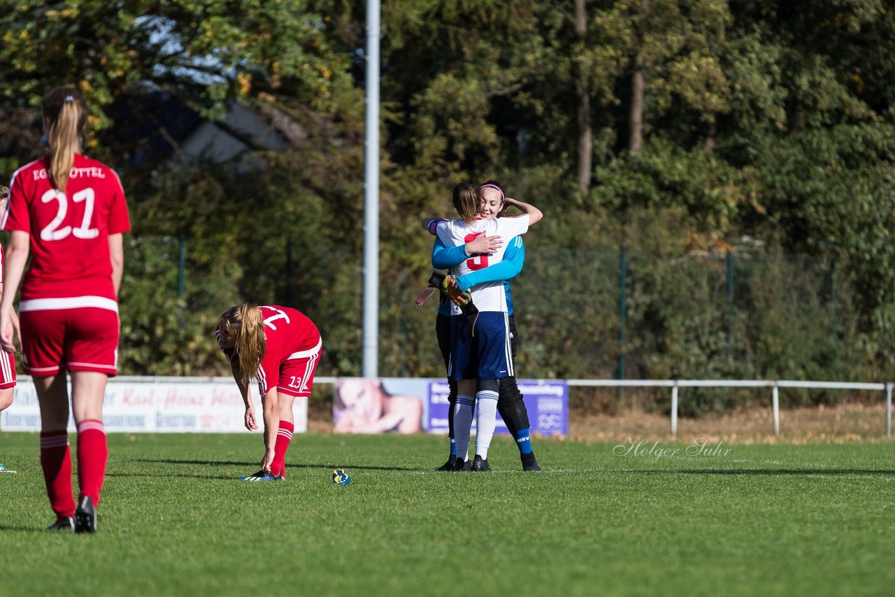
[[[72,444],[74,439],[72,438]],[[256,435],[109,436],[98,533],[53,520],[36,434],[0,434],[4,595],[891,594],[895,444],[536,439],[522,473],[434,473],[434,436],[296,435],[288,479]],[[72,446],[73,448],[73,446]],[[714,448],[709,446],[707,448]],[[691,452],[695,448],[691,448]],[[346,487],[331,470],[345,467]]]

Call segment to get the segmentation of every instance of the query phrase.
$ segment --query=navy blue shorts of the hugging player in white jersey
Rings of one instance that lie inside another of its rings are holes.
[[[514,375],[507,313],[480,312],[472,336],[468,318],[452,317],[450,323],[451,380],[501,380]]]

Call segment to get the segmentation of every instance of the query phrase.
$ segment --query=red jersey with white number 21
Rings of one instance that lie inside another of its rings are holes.
[[[115,300],[108,236],[131,229],[115,170],[75,154],[64,192],[40,158],[13,174],[0,227],[31,235],[21,299],[100,296]]]

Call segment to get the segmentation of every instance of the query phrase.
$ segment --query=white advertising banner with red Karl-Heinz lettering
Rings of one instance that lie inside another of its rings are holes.
[[[253,389],[260,422],[260,399]],[[306,432],[307,400],[296,399],[293,409],[295,432]],[[103,402],[103,424],[109,433],[249,433],[244,415],[243,398],[229,378],[113,378]],[[30,379],[19,379],[13,405],[0,414],[0,430],[40,431],[38,397]],[[75,431],[71,418],[68,431]]]

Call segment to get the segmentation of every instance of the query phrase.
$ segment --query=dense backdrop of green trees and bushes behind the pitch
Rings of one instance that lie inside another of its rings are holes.
[[[320,373],[357,374],[362,3],[4,8],[0,168],[38,154],[39,98],[73,83],[90,152],[129,193],[123,371],[221,371],[209,328],[246,298],[308,312]],[[614,374],[624,243],[636,376],[891,377],[884,0],[388,0],[382,25],[384,375],[442,374],[434,314],[412,304],[430,269],[418,221],[452,216],[453,184],[498,177],[548,215],[514,282],[524,375]],[[145,113],[151,93],[247,149],[225,164],[189,162],[175,144],[141,158],[171,136],[167,115]],[[286,149],[228,128],[231,102]],[[694,412],[735,401],[707,392]]]

